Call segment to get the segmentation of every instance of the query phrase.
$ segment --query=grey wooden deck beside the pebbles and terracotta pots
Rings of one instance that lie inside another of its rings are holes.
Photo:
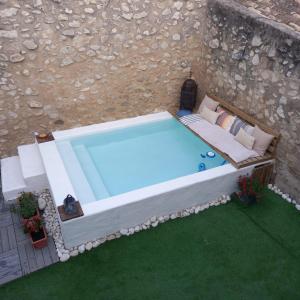
[[[23,233],[20,219],[5,205],[0,180],[0,285],[58,262],[53,239],[34,249]]]

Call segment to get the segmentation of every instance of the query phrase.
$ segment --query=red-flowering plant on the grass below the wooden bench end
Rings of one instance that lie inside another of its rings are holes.
[[[240,176],[238,179],[239,192],[234,193],[243,204],[251,205],[260,201],[263,185],[258,178],[251,176]]]

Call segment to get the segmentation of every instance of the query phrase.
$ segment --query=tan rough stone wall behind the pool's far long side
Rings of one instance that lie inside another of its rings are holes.
[[[0,0],[0,157],[33,131],[175,111],[204,0]]]

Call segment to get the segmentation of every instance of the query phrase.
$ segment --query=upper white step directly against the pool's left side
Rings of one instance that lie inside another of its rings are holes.
[[[48,188],[48,180],[37,144],[18,147],[21,171],[27,187],[32,191]]]

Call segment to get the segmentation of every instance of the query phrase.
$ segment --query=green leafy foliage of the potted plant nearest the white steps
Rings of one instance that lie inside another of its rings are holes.
[[[19,213],[23,219],[29,219],[36,214],[37,200],[32,193],[21,193],[17,204],[12,207],[14,213]]]

